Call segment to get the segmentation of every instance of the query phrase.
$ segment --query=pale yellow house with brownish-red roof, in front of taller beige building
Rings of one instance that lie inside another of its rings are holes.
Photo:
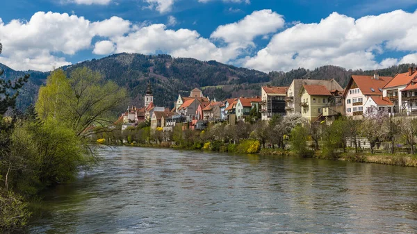
[[[325,85],[302,85],[300,97],[301,115],[312,122],[322,117],[332,94]]]

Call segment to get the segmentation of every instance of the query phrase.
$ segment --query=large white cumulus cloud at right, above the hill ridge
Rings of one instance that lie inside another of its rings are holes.
[[[377,69],[394,65],[395,59],[377,62],[375,53],[416,51],[416,27],[417,12],[395,10],[360,19],[334,12],[319,23],[300,23],[277,33],[267,47],[247,58],[243,65],[263,71],[322,65]],[[402,61],[411,58],[404,57]]]

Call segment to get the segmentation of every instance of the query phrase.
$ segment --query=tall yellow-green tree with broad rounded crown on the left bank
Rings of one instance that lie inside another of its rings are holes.
[[[126,90],[112,81],[104,82],[99,72],[83,67],[74,69],[70,78],[58,69],[40,87],[35,105],[42,119],[57,119],[58,124],[72,128],[76,135],[87,138],[91,126],[111,123],[111,112],[126,98]]]

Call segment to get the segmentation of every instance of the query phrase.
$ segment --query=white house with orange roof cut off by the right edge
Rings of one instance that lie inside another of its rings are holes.
[[[414,98],[409,85],[417,78],[417,68],[409,67],[408,72],[396,74],[389,83],[382,88],[382,96],[393,103],[393,113],[409,112]],[[404,90],[406,87],[407,90]],[[404,92],[403,92],[404,91]],[[410,95],[410,96],[408,96]]]

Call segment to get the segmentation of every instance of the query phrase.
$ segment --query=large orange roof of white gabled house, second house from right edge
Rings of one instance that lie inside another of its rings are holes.
[[[393,78],[391,76],[379,76],[378,79],[373,76],[352,76],[354,83],[356,83],[365,95],[382,95],[379,89],[382,89]],[[374,91],[371,90],[373,88]],[[347,88],[346,88],[347,91]]]

